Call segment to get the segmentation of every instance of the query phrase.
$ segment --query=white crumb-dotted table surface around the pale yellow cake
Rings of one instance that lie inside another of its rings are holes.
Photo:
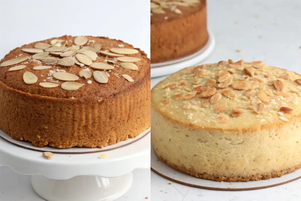
[[[301,1],[207,0],[207,5],[216,47],[203,63],[262,60],[301,73]],[[152,79],[152,87],[162,79]],[[154,201],[299,201],[301,180],[261,190],[216,191],[178,184],[151,172],[151,195]]]

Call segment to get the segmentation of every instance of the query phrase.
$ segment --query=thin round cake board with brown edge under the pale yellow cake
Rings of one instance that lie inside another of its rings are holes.
[[[174,168],[162,162],[151,148],[151,170],[157,174],[181,184],[188,186],[213,189],[213,190],[253,190],[278,186],[301,178],[301,168],[290,173],[284,174],[282,177],[275,177],[266,180],[248,181],[248,182],[220,182],[200,179],[193,177],[184,172],[175,170]]]

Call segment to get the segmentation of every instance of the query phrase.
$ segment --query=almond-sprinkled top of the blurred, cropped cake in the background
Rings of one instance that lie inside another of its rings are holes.
[[[206,7],[206,0],[151,0],[151,24],[191,15]]]

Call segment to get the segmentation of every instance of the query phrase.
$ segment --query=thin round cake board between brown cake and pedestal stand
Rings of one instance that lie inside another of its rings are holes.
[[[32,149],[36,151],[41,151],[41,152],[52,152],[52,153],[92,153],[92,152],[103,152],[103,151],[108,151],[111,149],[116,149],[122,146],[129,145],[131,143],[134,143],[137,140],[140,140],[142,137],[147,135],[149,132],[151,132],[151,128],[145,130],[142,132],[140,135],[134,137],[134,138],[129,138],[128,140],[123,140],[120,141],[119,143],[105,146],[104,148],[89,148],[89,147],[71,147],[71,148],[66,148],[66,149],[59,149],[57,147],[51,147],[51,146],[44,146],[44,147],[35,147],[31,143],[26,142],[26,141],[19,141],[19,140],[14,140],[12,139],[8,134],[0,130],[0,136],[3,137],[5,140],[10,141],[11,143],[14,143],[18,146],[25,147],[27,149]]]

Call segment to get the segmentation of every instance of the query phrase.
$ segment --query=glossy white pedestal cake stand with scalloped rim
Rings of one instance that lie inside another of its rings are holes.
[[[102,153],[108,157],[99,159]],[[117,149],[54,153],[52,159],[0,137],[2,165],[32,175],[33,189],[48,201],[112,201],[129,190],[135,168],[150,167],[150,133]]]

